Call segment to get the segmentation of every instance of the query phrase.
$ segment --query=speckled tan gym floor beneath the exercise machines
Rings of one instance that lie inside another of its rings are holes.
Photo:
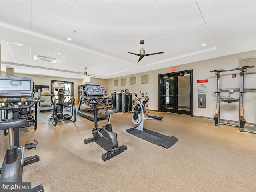
[[[146,120],[144,128],[178,142],[166,149],[126,132],[134,127],[131,113],[112,114],[118,145],[127,150],[104,162],[106,151],[92,137],[94,122],[77,117],[75,123],[58,122],[50,112],[38,113],[38,129],[20,130],[20,145],[37,140],[40,161],[24,166],[23,181],[44,186],[45,192],[256,192],[256,134],[238,128],[214,126],[214,120],[182,114],[148,111],[164,116],[162,122]],[[104,126],[107,120],[98,122]],[[0,131],[0,162],[8,137]]]

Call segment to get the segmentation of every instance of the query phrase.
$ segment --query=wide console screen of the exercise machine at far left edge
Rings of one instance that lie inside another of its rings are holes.
[[[0,99],[20,101],[33,98],[33,81],[26,77],[0,76]]]

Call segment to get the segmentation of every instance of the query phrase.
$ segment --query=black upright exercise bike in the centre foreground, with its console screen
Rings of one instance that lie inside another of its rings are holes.
[[[98,128],[97,119],[97,104],[102,103],[104,99],[111,99],[111,97],[104,96],[100,90],[100,84],[98,83],[85,83],[86,89],[86,101],[92,104],[94,109],[94,128],[92,128],[92,138],[84,140],[84,143],[90,143],[95,141],[98,145],[104,148],[107,152],[102,154],[102,160],[106,161],[121,152],[127,150],[125,145],[118,146],[117,135],[112,131],[112,126],[110,123],[111,114],[118,112],[118,110],[105,110],[105,115],[108,115],[108,123],[102,128]]]

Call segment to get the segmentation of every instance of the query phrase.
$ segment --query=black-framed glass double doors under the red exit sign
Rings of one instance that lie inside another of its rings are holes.
[[[158,111],[193,116],[193,70],[159,75]]]

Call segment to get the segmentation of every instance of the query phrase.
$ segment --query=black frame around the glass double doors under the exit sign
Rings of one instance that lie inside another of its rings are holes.
[[[188,114],[190,116],[193,116],[193,70],[186,70],[186,71],[179,71],[179,72],[172,72],[172,73],[166,73],[166,74],[160,74],[158,75],[158,112],[167,111],[164,110],[163,107],[163,99],[162,95],[164,94],[164,80],[163,78],[166,76],[174,77],[174,76],[182,76],[182,75],[190,74],[190,110],[184,111],[184,110],[176,110],[175,113],[179,114]]]

